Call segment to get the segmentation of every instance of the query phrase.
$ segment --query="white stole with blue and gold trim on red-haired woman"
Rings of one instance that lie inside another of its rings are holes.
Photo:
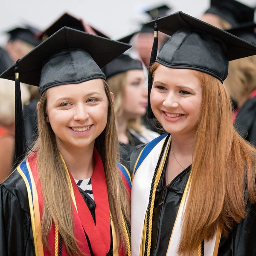
[[[163,134],[160,137],[152,140],[148,143],[143,151],[140,153],[135,166],[134,166],[134,177],[132,183],[131,191],[131,254],[132,256],[142,256],[142,244],[145,242],[143,240],[143,230],[145,224],[145,216],[149,203],[149,194],[151,189],[151,182],[154,175],[154,170],[157,165],[157,161],[160,157],[160,152],[162,150],[164,141],[167,134]],[[163,165],[168,154],[167,149],[171,138],[166,144],[166,148],[163,152],[163,157],[160,162],[159,170],[162,171]],[[180,207],[175,220],[175,225],[172,230],[171,239],[169,241],[169,246],[166,255],[167,256],[177,256],[177,248],[179,245],[183,212],[186,209],[186,194],[189,194],[188,188],[189,181],[184,191],[184,196],[181,200]],[[217,256],[218,244],[221,233],[219,230],[216,232],[214,238],[210,241],[204,242],[204,255],[205,256]],[[145,236],[145,234],[144,234]],[[193,254],[198,255],[195,251]],[[180,255],[181,256],[181,255]]]

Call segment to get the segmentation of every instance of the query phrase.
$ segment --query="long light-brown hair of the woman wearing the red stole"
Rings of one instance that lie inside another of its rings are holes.
[[[118,140],[115,127],[113,103],[108,84],[104,82],[105,93],[108,98],[107,125],[96,138],[95,146],[102,158],[108,187],[109,208],[113,215],[116,228],[117,241],[122,242],[122,247],[127,250],[122,224],[122,212],[130,221],[130,207],[127,201],[125,188],[122,186],[122,178],[116,166],[118,155]],[[42,240],[49,249],[47,237],[52,227],[52,221],[58,226],[58,230],[64,240],[69,255],[78,255],[81,250],[74,236],[74,220],[70,199],[70,191],[65,176],[64,166],[61,162],[55,134],[46,121],[47,91],[40,100],[38,108],[38,133],[34,150],[37,151],[38,175],[41,182],[44,209],[42,216]],[[106,113],[107,114],[107,113]]]

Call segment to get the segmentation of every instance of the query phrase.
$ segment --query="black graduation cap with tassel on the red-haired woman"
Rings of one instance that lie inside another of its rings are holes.
[[[183,12],[176,12],[146,25],[171,36],[156,59],[166,67],[198,70],[223,82],[228,73],[228,61],[256,55],[255,45]],[[155,35],[157,37],[157,33]],[[154,63],[156,52],[157,44],[154,44],[150,64]],[[149,73],[149,96],[151,79]],[[153,113],[148,116],[154,117]]]

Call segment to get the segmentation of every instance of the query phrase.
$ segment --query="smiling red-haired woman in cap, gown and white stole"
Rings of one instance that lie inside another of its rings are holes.
[[[256,46],[183,12],[148,25],[171,35],[149,79],[148,115],[167,133],[131,156],[132,255],[256,255],[256,150],[222,84]]]

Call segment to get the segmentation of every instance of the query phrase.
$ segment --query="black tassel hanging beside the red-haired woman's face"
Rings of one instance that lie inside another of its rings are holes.
[[[159,17],[156,18],[155,25],[154,25],[154,43],[153,43],[152,51],[151,51],[151,55],[150,55],[149,68],[152,66],[152,64],[154,64],[154,62],[156,61],[156,58],[157,58],[157,49],[158,49],[158,37],[157,37],[158,24],[157,24],[157,19],[158,18]],[[148,71],[148,111],[147,111],[147,117],[151,118],[151,119],[155,117],[154,113],[152,112],[151,105],[150,105],[150,93],[151,93],[151,89],[152,89],[152,83],[153,83],[152,74],[150,73],[150,71]]]

